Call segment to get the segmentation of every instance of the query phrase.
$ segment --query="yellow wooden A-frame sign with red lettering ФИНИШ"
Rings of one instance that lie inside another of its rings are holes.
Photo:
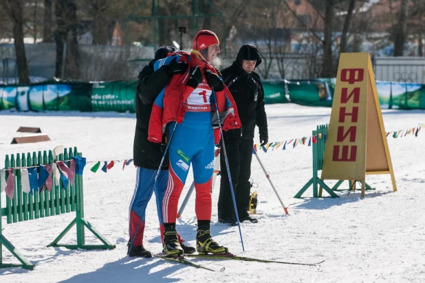
[[[369,53],[343,53],[321,179],[359,181],[364,197],[367,174],[391,174],[397,190],[371,58]]]

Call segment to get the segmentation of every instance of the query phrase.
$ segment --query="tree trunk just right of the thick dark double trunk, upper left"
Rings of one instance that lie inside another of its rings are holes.
[[[108,19],[105,16],[107,10],[106,0],[96,0],[91,4],[94,10],[93,19],[93,44],[106,45],[108,42]]]

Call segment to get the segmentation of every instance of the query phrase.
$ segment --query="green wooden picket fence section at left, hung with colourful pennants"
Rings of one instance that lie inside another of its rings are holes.
[[[58,155],[58,161],[64,161],[69,166],[69,159],[75,156],[82,156],[77,148],[64,149],[63,154]],[[24,269],[33,269],[32,264],[22,253],[16,249],[5,236],[2,234],[1,218],[6,217],[7,223],[17,223],[21,221],[34,220],[37,218],[45,218],[49,216],[65,214],[69,212],[75,212],[76,218],[63,230],[63,232],[56,237],[56,239],[47,245],[47,247],[65,247],[67,249],[114,249],[115,245],[112,245],[106,238],[104,238],[94,227],[91,227],[90,223],[84,218],[84,199],[83,199],[83,176],[75,174],[74,185],[69,183],[67,188],[63,188],[61,181],[56,182],[55,178],[52,177],[53,185],[52,190],[49,192],[43,190],[34,190],[34,194],[27,194],[22,191],[21,188],[21,170],[23,167],[37,167],[40,164],[52,164],[56,161],[53,159],[52,150],[47,153],[46,150],[36,154],[36,152],[23,153],[16,155],[6,155],[5,168],[14,168],[14,197],[10,200],[6,196],[6,207],[1,207],[1,194],[0,194],[0,268],[5,267],[23,267]],[[8,172],[6,171],[6,179]],[[1,180],[0,182],[5,182]],[[58,242],[67,234],[67,232],[76,225],[77,241],[76,245],[59,245]],[[103,245],[86,245],[85,244],[85,227],[91,231],[96,238],[98,238]],[[21,264],[5,264],[3,263],[2,246],[12,253]]]

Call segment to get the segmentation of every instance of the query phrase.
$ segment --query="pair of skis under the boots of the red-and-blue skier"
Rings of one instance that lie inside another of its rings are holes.
[[[156,258],[161,258],[162,260],[170,260],[173,262],[179,262],[182,264],[187,264],[191,267],[196,267],[198,269],[206,269],[209,271],[215,271],[214,269],[209,269],[208,267],[204,267],[200,264],[195,264],[194,262],[191,262],[190,260],[187,260],[186,258],[210,258],[214,260],[243,260],[243,261],[249,261],[249,262],[265,262],[265,263],[280,263],[280,264],[294,264],[294,265],[307,265],[310,267],[314,267],[317,264],[323,263],[325,260],[322,260],[321,262],[316,263],[299,263],[299,262],[281,262],[276,260],[261,260],[259,258],[246,258],[243,256],[236,256],[232,253],[225,253],[225,254],[184,254],[184,256],[166,256],[166,254],[154,254]],[[226,267],[223,267],[220,269],[220,271],[224,271]]]

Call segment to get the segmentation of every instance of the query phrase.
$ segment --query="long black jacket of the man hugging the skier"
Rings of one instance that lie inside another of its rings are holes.
[[[156,60],[165,58],[169,52],[174,52],[173,47],[160,47],[155,52],[155,59],[151,60],[138,76],[135,91],[135,136],[133,145],[134,165],[142,168],[157,170],[160,166],[164,145],[148,141],[149,119],[152,105],[157,95],[170,82],[172,73],[164,65],[157,71],[153,69]],[[162,170],[168,170],[168,154],[162,163]]]

